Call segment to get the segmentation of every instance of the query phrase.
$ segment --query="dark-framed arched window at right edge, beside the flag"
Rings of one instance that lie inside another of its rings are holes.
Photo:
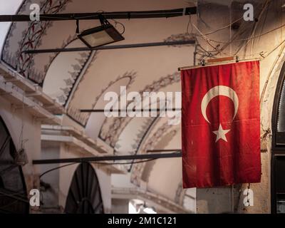
[[[272,133],[271,212],[285,213],[285,63],[274,98]]]

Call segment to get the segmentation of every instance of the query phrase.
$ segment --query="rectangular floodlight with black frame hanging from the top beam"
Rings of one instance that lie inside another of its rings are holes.
[[[102,15],[99,15],[99,20],[101,26],[87,29],[78,35],[86,46],[95,48],[125,39]]]

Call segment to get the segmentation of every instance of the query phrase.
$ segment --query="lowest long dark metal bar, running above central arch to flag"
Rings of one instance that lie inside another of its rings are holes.
[[[44,159],[33,160],[33,165],[55,164],[55,163],[73,163],[73,162],[102,162],[114,160],[138,160],[138,159],[157,159],[181,157],[181,151],[171,153],[156,153],[142,155],[114,155],[114,156],[98,156],[98,157],[76,157],[76,158],[61,158],[61,159]]]

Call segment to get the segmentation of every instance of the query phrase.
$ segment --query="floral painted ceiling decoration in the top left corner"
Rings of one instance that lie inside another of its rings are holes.
[[[41,6],[43,14],[56,14],[65,9],[66,4],[71,0],[44,0],[44,1],[24,1],[18,14],[29,14],[29,6],[37,3]],[[38,71],[35,66],[33,55],[24,51],[36,49],[42,44],[42,37],[46,35],[46,30],[51,28],[52,21],[32,21],[11,24],[11,28],[6,36],[4,48],[1,54],[1,61],[14,68],[22,76],[31,81],[42,84],[45,73]],[[21,36],[19,36],[19,35]]]

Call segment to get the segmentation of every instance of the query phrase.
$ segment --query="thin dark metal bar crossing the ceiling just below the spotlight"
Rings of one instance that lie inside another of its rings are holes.
[[[153,46],[173,46],[173,45],[185,45],[185,44],[195,44],[195,40],[188,41],[170,41],[170,42],[155,42],[155,43],[133,43],[124,45],[110,45],[110,46],[100,46],[97,48],[51,48],[51,49],[38,49],[38,50],[26,50],[26,54],[36,54],[36,53],[54,53],[54,52],[69,52],[69,51],[96,51],[96,50],[110,50],[110,49],[121,49],[121,48],[146,48]]]

